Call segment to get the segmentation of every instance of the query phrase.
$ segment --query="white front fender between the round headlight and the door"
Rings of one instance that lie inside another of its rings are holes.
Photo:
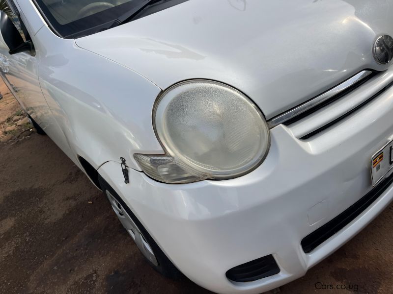
[[[109,59],[57,37],[47,26],[36,34],[39,79],[47,103],[73,152],[94,168],[136,152],[163,153],[151,123],[161,89]],[[60,146],[61,147],[61,146]]]

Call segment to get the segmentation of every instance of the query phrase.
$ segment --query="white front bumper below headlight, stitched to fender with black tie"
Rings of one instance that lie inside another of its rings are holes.
[[[218,293],[261,293],[290,282],[343,245],[392,200],[393,187],[354,221],[306,254],[302,239],[371,190],[370,158],[393,134],[393,89],[308,140],[290,127],[271,130],[272,145],[255,171],[231,180],[158,183],[118,163],[99,169],[168,258]],[[225,272],[273,254],[281,272],[236,283]]]

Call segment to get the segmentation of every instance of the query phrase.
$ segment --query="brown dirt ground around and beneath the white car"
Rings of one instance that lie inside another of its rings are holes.
[[[20,113],[8,91],[0,91],[1,139]],[[101,192],[47,136],[24,127],[28,132],[0,143],[1,294],[208,293],[187,278],[171,281],[152,270]],[[281,293],[393,293],[392,237],[391,205]]]

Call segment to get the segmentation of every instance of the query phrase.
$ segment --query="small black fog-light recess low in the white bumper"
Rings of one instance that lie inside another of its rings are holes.
[[[280,268],[270,254],[228,270],[226,277],[234,282],[251,282],[279,272]]]

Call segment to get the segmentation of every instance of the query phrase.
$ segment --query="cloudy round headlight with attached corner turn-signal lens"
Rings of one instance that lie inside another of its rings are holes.
[[[242,93],[208,80],[181,82],[156,101],[153,126],[165,155],[134,154],[165,183],[230,179],[259,166],[270,147],[262,113]]]

